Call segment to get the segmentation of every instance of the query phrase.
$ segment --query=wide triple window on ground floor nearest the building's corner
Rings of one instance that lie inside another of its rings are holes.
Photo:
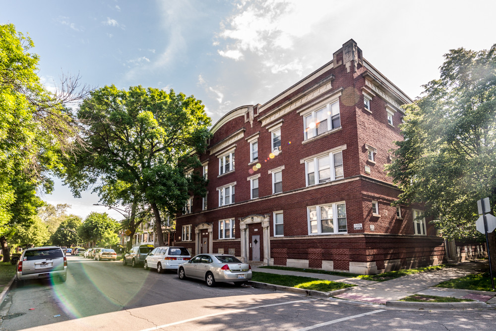
[[[307,213],[310,235],[347,232],[345,203],[311,206]]]

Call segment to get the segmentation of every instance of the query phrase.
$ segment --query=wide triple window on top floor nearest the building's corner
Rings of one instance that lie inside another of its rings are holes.
[[[311,112],[304,117],[305,140],[324,132],[339,128],[341,119],[339,115],[339,100],[328,104],[325,108]]]

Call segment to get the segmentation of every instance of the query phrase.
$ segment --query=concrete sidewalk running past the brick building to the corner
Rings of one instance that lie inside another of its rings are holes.
[[[486,302],[488,304],[494,304],[496,306],[496,292],[469,291],[433,287],[445,280],[463,277],[468,274],[477,272],[477,270],[483,267],[484,262],[466,262],[452,267],[442,268],[440,270],[406,275],[383,282],[320,273],[287,271],[259,267],[252,268],[252,271],[312,277],[317,279],[332,280],[357,285],[355,287],[348,288],[347,291],[344,293],[334,296],[336,298],[345,300],[386,304],[386,302],[388,301],[401,300],[412,294],[423,294],[441,297],[449,296],[460,299],[472,299]]]

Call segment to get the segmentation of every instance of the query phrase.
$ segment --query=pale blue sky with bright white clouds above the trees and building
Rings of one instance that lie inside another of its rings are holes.
[[[0,24],[34,41],[42,82],[62,73],[93,88],[142,85],[194,95],[212,123],[264,104],[354,39],[363,56],[411,98],[439,77],[443,55],[494,43],[496,1],[459,0],[0,0]],[[48,203],[70,213],[123,216],[56,180]]]

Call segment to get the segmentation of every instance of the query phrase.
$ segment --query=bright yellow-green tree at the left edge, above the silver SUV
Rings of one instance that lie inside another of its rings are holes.
[[[52,190],[49,174],[63,172],[62,158],[79,139],[77,122],[66,105],[88,92],[86,86],[79,89],[78,76],[62,75],[56,93],[45,89],[37,75],[39,58],[30,53],[33,46],[14,25],[0,25],[0,243],[4,261],[9,260],[6,232],[31,222],[41,205],[35,193]]]

